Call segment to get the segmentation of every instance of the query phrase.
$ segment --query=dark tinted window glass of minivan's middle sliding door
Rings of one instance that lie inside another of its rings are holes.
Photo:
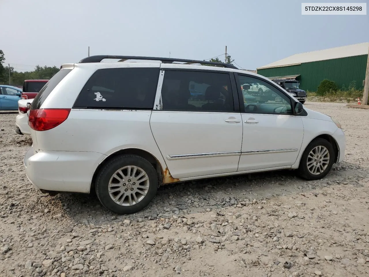
[[[233,112],[233,95],[227,73],[165,71],[163,110]]]

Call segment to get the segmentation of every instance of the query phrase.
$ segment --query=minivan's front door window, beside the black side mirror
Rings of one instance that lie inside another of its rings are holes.
[[[293,114],[290,98],[268,82],[238,75],[245,113]]]

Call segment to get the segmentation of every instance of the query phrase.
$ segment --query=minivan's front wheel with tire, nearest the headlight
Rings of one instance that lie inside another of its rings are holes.
[[[306,147],[299,165],[299,175],[307,180],[318,180],[331,170],[335,152],[332,144],[317,138]]]

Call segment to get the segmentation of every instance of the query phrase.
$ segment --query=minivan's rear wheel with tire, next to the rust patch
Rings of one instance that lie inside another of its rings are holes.
[[[120,155],[108,161],[96,178],[101,204],[118,214],[144,209],[158,189],[158,175],[151,163],[137,155]]]

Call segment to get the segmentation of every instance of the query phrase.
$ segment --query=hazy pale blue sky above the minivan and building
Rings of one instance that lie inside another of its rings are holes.
[[[368,10],[303,16],[296,0],[0,0],[0,11],[0,49],[17,71],[78,62],[88,47],[90,55],[224,60],[225,46],[236,66],[256,70],[301,52],[369,42]]]

